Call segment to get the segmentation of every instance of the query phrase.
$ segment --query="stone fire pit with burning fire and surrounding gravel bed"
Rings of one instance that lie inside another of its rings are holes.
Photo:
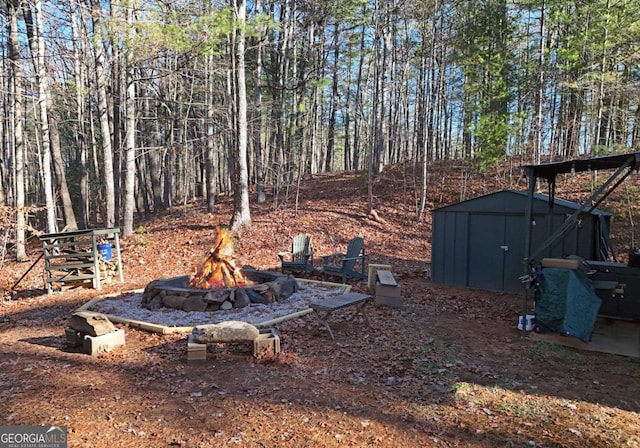
[[[144,291],[96,298],[80,309],[162,333],[229,320],[262,326],[307,314],[311,301],[349,289],[280,272],[237,268],[231,235],[218,228],[214,245],[194,274],[154,280]]]

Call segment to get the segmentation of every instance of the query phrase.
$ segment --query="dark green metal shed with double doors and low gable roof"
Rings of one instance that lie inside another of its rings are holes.
[[[502,190],[432,211],[431,278],[435,283],[522,292],[525,262],[526,192]],[[531,247],[542,246],[579,204],[535,194]],[[611,214],[594,209],[578,225],[542,250],[544,257],[578,255],[608,259]]]

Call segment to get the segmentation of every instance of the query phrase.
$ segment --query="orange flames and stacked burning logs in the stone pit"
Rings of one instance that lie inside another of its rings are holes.
[[[216,240],[202,262],[200,270],[189,281],[189,288],[231,288],[246,286],[248,280],[242,275],[233,259],[233,237],[231,233],[216,226]]]

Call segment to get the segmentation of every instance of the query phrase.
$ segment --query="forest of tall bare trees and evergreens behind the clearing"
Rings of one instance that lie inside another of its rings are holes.
[[[4,0],[0,201],[33,230],[122,227],[303,176],[632,150],[637,0]]]

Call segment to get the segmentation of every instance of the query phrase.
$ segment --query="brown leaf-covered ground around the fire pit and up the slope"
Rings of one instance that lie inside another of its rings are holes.
[[[126,345],[111,353],[65,343],[67,319],[92,297],[191,272],[215,224],[228,221],[228,198],[216,214],[194,203],[140,220],[122,243],[125,283],[101,292],[47,295],[42,262],[11,292],[29,263],[5,260],[0,425],[67,425],[70,447],[93,448],[640,446],[640,361],[523,337],[519,295],[433,284],[431,221],[415,219],[414,178],[413,167],[398,167],[374,185],[380,221],[366,216],[366,177],[353,173],[306,179],[252,205],[252,227],[236,234],[242,263],[277,269],[276,252],[297,233],[312,235],[317,254],[361,235],[368,261],[391,264],[403,288],[401,308],[369,309],[371,327],[335,313],[335,341],[313,315],[278,324],[282,352],[272,360],[223,346],[188,363],[185,335],[126,326]],[[512,164],[483,176],[439,164],[428,185],[429,209],[523,189],[523,180]],[[562,186],[580,197],[588,180]],[[622,199],[605,205],[621,221],[636,210]],[[615,234],[623,249],[628,232]],[[34,238],[32,259],[39,253]]]

